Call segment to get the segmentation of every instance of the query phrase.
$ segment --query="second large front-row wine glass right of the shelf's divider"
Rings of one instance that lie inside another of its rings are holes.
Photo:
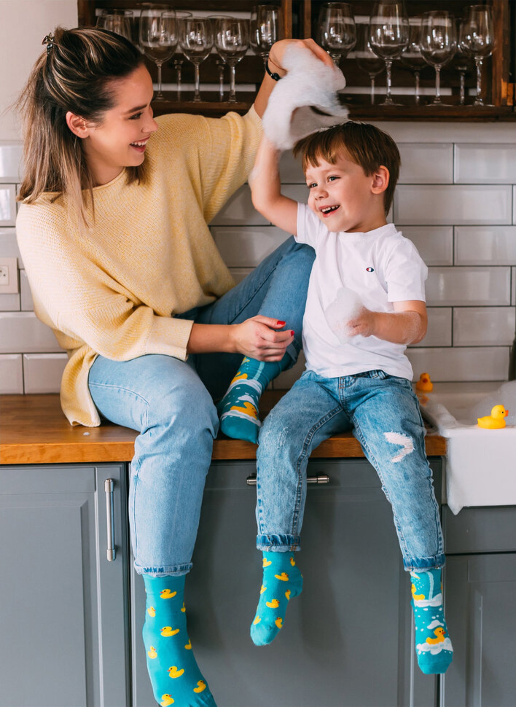
[[[369,45],[385,61],[387,93],[382,105],[403,105],[394,103],[391,95],[392,62],[409,45],[409,18],[403,2],[383,0],[374,4],[369,20]]]

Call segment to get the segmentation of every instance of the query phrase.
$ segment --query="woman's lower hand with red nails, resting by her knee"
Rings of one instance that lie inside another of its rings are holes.
[[[294,340],[294,332],[290,329],[277,331],[284,326],[285,322],[262,315],[235,324],[230,334],[234,350],[257,361],[281,361],[287,346]]]

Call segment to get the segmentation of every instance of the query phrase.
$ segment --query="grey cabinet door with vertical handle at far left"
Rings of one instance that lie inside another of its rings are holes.
[[[1,704],[129,704],[125,464],[0,474]]]

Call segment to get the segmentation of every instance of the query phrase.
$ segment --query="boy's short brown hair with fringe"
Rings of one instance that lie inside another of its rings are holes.
[[[308,166],[317,166],[319,158],[335,164],[337,155],[343,150],[348,159],[360,165],[367,177],[375,174],[380,165],[389,170],[389,185],[384,192],[387,216],[394,198],[401,158],[397,144],[386,132],[369,123],[350,120],[298,140],[293,153],[295,157],[301,155],[301,166],[306,172]]]

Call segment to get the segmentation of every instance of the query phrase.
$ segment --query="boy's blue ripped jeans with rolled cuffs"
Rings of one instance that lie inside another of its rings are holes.
[[[323,440],[350,429],[391,503],[404,568],[442,567],[418,400],[409,380],[383,370],[341,378],[307,370],[266,417],[257,451],[257,548],[299,549],[308,457]]]

